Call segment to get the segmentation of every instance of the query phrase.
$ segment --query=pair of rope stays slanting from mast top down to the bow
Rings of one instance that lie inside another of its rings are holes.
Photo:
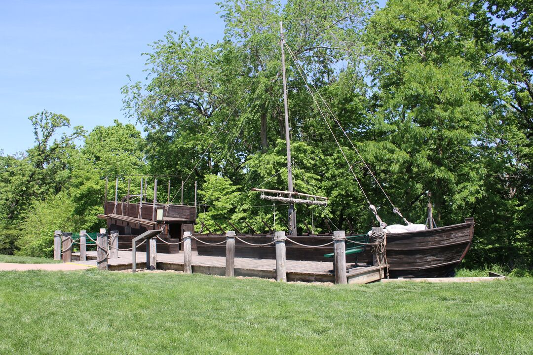
[[[370,201],[368,200],[368,197],[364,191],[364,189],[362,188],[359,180],[357,179],[357,177],[355,176],[354,172],[353,172],[353,169],[352,169],[352,166],[350,164],[350,162],[348,161],[348,159],[346,159],[346,155],[344,154],[344,151],[342,150],[342,147],[340,146],[340,144],[338,143],[337,141],[337,138],[335,137],[334,133],[333,133],[333,130],[332,128],[330,127],[329,123],[327,122],[326,120],[326,117],[324,115],[324,113],[322,112],[316,98],[314,97],[312,91],[311,91],[311,88],[309,87],[308,83],[307,83],[307,80],[304,78],[303,76],[303,67],[301,67],[301,65],[298,63],[298,60],[296,58],[296,56],[294,55],[294,53],[292,52],[292,50],[290,49],[290,47],[288,46],[288,44],[285,42],[285,46],[287,47],[287,50],[288,52],[290,53],[291,57],[292,57],[292,60],[296,66],[296,69],[298,70],[298,73],[300,74],[300,76],[302,77],[302,80],[304,81],[304,84],[306,86],[306,88],[308,89],[309,93],[311,94],[312,98],[313,98],[313,102],[314,104],[317,105],[317,108],[318,110],[320,111],[320,114],[322,115],[322,118],[324,119],[324,121],[326,122],[326,125],[328,126],[329,128],[329,131],[330,133],[332,134],[333,138],[335,139],[335,143],[337,143],[337,146],[339,147],[339,149],[341,150],[343,156],[344,156],[344,159],[346,160],[346,163],[348,163],[348,166],[349,166],[349,170],[352,172],[352,174],[354,175],[354,178],[356,179],[358,185],[359,185],[359,188],[361,189],[361,192],[365,195],[365,198],[369,204],[369,209],[374,213],[374,216],[376,217],[376,219],[379,221],[379,224],[380,226],[382,226],[383,228],[386,227],[386,224],[384,224],[384,222],[381,220],[381,218],[379,218],[378,214],[377,214],[377,210],[376,208],[374,207],[374,205],[372,205],[372,203],[370,203]],[[304,72],[305,73],[305,72]],[[374,181],[376,182],[377,186],[379,187],[379,189],[381,189],[381,191],[383,192],[383,194],[385,195],[387,201],[389,201],[389,203],[391,204],[392,206],[392,211],[396,214],[398,214],[398,216],[400,216],[403,221],[407,224],[407,225],[410,225],[412,224],[411,222],[409,222],[405,217],[403,217],[403,215],[401,214],[400,212],[400,209],[395,207],[394,203],[392,202],[392,200],[390,199],[389,195],[387,195],[387,193],[385,192],[385,189],[383,188],[383,186],[379,183],[379,181],[377,180],[376,176],[374,175],[374,173],[372,172],[372,170],[370,169],[370,167],[368,166],[368,164],[366,163],[365,159],[362,157],[362,155],[360,154],[359,150],[357,149],[357,147],[353,144],[352,140],[350,139],[350,137],[348,136],[348,133],[346,133],[346,131],[344,130],[344,128],[342,127],[341,123],[338,121],[338,119],[336,118],[335,114],[333,113],[333,111],[331,110],[331,108],[329,107],[328,103],[326,102],[326,100],[324,99],[324,97],[322,97],[322,95],[320,94],[319,90],[316,88],[316,86],[314,86],[313,82],[311,82],[311,86],[314,88],[314,90],[317,92],[318,96],[320,97],[320,100],[322,101],[322,103],[324,103],[326,105],[326,108],[329,112],[329,114],[333,117],[333,120],[335,121],[335,123],[337,123],[338,127],[342,130],[342,133],[344,134],[344,136],[348,139],[348,141],[350,142],[350,145],[352,146],[353,150],[356,151],[357,155],[359,156],[359,158],[361,159],[361,161],[365,164],[365,167],[366,169],[368,170],[368,172],[370,173],[370,175],[372,176],[372,178],[374,179]]]

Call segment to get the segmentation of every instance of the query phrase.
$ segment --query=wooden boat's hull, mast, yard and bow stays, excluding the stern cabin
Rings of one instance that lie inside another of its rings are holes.
[[[281,25],[281,24],[280,24]],[[293,189],[293,178],[292,178],[292,159],[290,156],[290,141],[289,141],[289,122],[288,122],[288,100],[287,100],[287,80],[285,74],[285,47],[288,48],[289,53],[293,56],[295,65],[297,64],[296,57],[290,48],[287,46],[283,36],[283,28],[280,26],[281,32],[281,72],[283,78],[283,87],[284,87],[284,109],[285,109],[285,138],[287,145],[287,174],[288,174],[288,191],[268,191],[268,190],[259,190],[255,189],[262,193],[261,197],[270,201],[280,201],[289,204],[288,210],[288,232],[290,237],[301,244],[306,245],[322,245],[326,244],[332,239],[332,233],[329,234],[300,234],[298,235],[296,229],[296,213],[294,209],[295,203],[303,204],[325,204],[327,199],[322,196],[314,196],[309,194],[302,194],[299,192],[294,192]],[[303,68],[298,69],[302,80],[305,81],[304,76],[302,75]],[[318,107],[318,100],[314,97],[310,87],[305,85],[311,96],[313,96],[313,102],[317,105],[318,110],[321,112]],[[320,96],[320,95],[319,95]],[[320,99],[322,97],[320,96]],[[327,106],[326,101],[324,104]],[[335,118],[333,112],[329,109],[329,113],[333,116],[333,119],[338,124],[338,126],[343,131],[348,141],[351,143],[353,149],[357,152],[359,159],[364,162],[365,167],[370,172],[370,175],[375,179],[378,186],[382,189],[383,193],[386,196],[385,191],[383,190],[379,181],[375,178],[372,171],[366,164],[365,160],[362,158],[361,154],[357,148],[353,145],[350,138],[346,134],[345,130],[341,127],[340,122]],[[321,113],[322,114],[322,113]],[[324,115],[322,114],[322,117]],[[324,120],[326,118],[324,117]],[[327,121],[326,121],[327,123]],[[327,123],[329,127],[329,123]],[[357,181],[361,191],[365,195],[365,192],[362,189],[359,180],[357,179],[356,174],[352,170],[352,166],[346,155],[343,152],[343,149],[340,144],[338,144],[337,138],[335,138],[333,131],[330,129],[337,146],[340,148],[343,153],[346,163],[348,163],[349,170],[352,172],[354,179]],[[267,192],[267,193],[265,193]],[[277,196],[269,195],[268,192],[271,192]],[[386,196],[387,200],[391,202],[389,196]],[[368,198],[367,198],[368,201]],[[369,202],[369,201],[368,201]],[[397,213],[407,225],[410,223],[403,218],[401,212],[398,208],[393,207],[393,211]],[[379,218],[377,209],[374,205],[369,202],[369,209],[372,211],[379,222],[381,227],[385,228],[386,224]],[[426,220],[427,229],[415,230],[413,232],[405,233],[387,233],[386,234],[386,262],[389,265],[389,276],[390,277],[443,277],[451,276],[454,273],[455,267],[465,257],[466,252],[469,250],[470,244],[472,242],[472,237],[474,233],[474,220],[473,218],[465,219],[465,222],[462,224],[456,224],[451,226],[435,228],[435,224],[432,218],[432,208],[431,204],[428,205],[428,218]],[[249,226],[248,226],[249,227]],[[346,233],[348,237],[353,236],[353,230],[351,233]],[[273,233],[270,230],[269,234],[241,234],[239,235],[241,239],[248,241],[253,244],[265,244],[272,241]],[[209,233],[206,235],[200,234],[198,238],[202,241],[215,243],[223,240],[223,234],[213,234]],[[197,245],[198,253],[205,255],[224,255],[224,247],[218,245]],[[304,247],[294,243],[286,243],[286,255],[289,260],[317,260],[317,261],[331,261],[331,259],[326,259],[325,255],[333,252],[333,246],[317,246],[317,247]],[[276,253],[272,245],[269,246],[252,246],[245,244],[243,242],[236,242],[236,257],[247,257],[247,258],[258,258],[258,259],[274,259]],[[346,256],[346,262],[350,262],[350,256]],[[366,248],[365,252],[362,255],[358,255],[355,261],[366,262],[369,265],[373,263],[372,253],[370,247]]]

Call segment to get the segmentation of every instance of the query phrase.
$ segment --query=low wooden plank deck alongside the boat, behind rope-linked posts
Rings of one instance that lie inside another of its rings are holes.
[[[72,260],[79,260],[79,253],[72,253]],[[87,251],[87,261],[77,261],[82,265],[96,266],[96,252]],[[137,268],[146,268],[146,253],[136,253]],[[132,253],[119,251],[118,258],[108,259],[109,270],[132,268]],[[287,280],[303,282],[334,282],[333,262],[287,260]],[[354,265],[346,271],[348,283],[364,284],[383,278],[384,268],[377,266]],[[157,269],[183,271],[183,253],[157,253]],[[225,257],[198,255],[193,252],[192,272],[208,275],[225,275]],[[235,276],[255,276],[276,278],[276,260],[235,258]]]

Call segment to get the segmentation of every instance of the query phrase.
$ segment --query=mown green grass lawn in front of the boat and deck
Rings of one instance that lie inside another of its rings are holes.
[[[0,354],[531,354],[533,279],[321,286],[0,273]]]

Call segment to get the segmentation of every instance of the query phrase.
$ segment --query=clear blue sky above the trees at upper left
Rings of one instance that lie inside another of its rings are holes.
[[[213,0],[1,1],[0,149],[33,146],[27,118],[43,109],[86,129],[127,122],[120,88],[127,74],[143,79],[147,45],[183,26],[216,42],[217,10]]]

